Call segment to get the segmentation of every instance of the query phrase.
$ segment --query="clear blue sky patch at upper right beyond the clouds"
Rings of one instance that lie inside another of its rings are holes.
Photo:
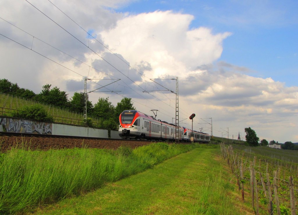
[[[214,33],[231,32],[218,61],[248,67],[255,77],[297,86],[297,1],[133,1],[116,9],[131,14],[156,10],[193,15],[190,29],[206,26]]]

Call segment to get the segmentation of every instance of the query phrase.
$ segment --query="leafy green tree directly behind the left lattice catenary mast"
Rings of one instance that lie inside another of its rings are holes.
[[[85,95],[83,93],[75,92],[70,99],[70,109],[78,113],[84,113],[85,108]],[[90,116],[93,113],[92,102],[87,101],[87,115]]]

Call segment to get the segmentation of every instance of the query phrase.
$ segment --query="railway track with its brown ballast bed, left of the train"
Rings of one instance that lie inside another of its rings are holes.
[[[152,143],[148,140],[107,139],[94,137],[74,137],[58,135],[34,135],[0,132],[0,152],[6,152],[12,146],[31,150],[49,150],[62,148],[106,148],[117,149],[119,146],[136,148]]]

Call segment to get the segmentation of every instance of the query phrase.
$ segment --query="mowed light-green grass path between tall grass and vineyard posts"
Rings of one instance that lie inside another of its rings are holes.
[[[218,147],[196,148],[36,214],[243,214],[218,153]]]

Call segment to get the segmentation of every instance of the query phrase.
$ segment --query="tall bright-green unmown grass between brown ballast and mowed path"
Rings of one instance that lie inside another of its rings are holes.
[[[199,145],[153,143],[134,150],[120,147],[116,151],[12,148],[0,156],[0,214],[24,212],[79,195],[196,147]]]

